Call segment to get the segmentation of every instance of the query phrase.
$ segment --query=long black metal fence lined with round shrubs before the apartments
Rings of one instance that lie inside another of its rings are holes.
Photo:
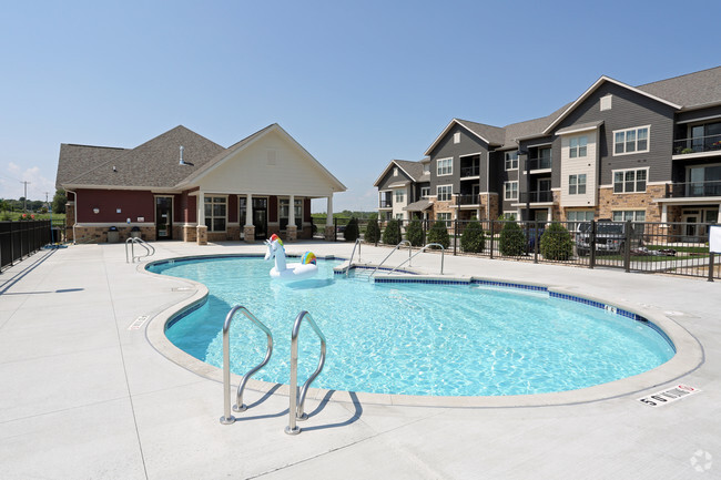
[[[369,222],[358,221],[365,241]],[[380,245],[440,243],[453,255],[721,279],[721,262],[709,252],[708,224],[455,219],[443,221],[437,228],[436,221],[377,224],[378,238],[372,243]],[[347,221],[336,218],[334,226],[335,241],[345,241]]]

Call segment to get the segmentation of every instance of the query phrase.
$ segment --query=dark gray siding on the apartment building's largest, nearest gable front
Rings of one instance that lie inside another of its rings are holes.
[[[613,95],[612,108],[601,112],[600,98],[609,93]],[[673,116],[673,108],[607,82],[563,119],[556,126],[556,131],[577,124],[603,121],[603,125],[599,129],[598,145],[601,185],[612,183],[611,171],[613,170],[646,166],[650,166],[649,182],[664,182],[671,180]],[[613,156],[613,131],[642,125],[651,125],[649,152]],[[554,150],[559,149],[560,141],[555,141]],[[560,178],[557,178],[559,172],[560,168],[555,171],[554,186],[560,185]]]

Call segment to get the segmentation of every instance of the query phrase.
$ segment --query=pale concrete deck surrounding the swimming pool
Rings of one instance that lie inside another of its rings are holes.
[[[265,252],[153,245],[153,261]],[[353,245],[286,247],[347,257]],[[364,245],[363,261],[388,252]],[[437,254],[417,258],[414,267],[438,272]],[[0,274],[0,478],[721,476],[721,283],[460,256],[446,256],[445,272],[560,286],[666,316],[701,344],[700,365],[642,391],[547,407],[398,406],[327,391],[306,400],[311,418],[299,436],[283,433],[281,389],[246,390],[252,408],[223,426],[222,384],[146,338],[149,323],[194,288],[126,264],[121,244],[41,251]],[[142,316],[148,321],[130,329]],[[638,401],[678,384],[701,391],[661,407]]]

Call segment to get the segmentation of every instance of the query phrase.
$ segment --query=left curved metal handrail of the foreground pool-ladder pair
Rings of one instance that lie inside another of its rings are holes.
[[[265,351],[265,359],[258,364],[256,367],[251,368],[247,374],[243,376],[241,379],[241,384],[237,386],[237,395],[235,397],[235,405],[233,406],[234,411],[245,411],[247,407],[243,404],[243,390],[245,389],[245,384],[247,384],[247,380],[251,379],[253,375],[261,368],[265,367],[265,364],[268,362],[271,359],[271,355],[273,355],[273,334],[271,334],[271,330],[251,312],[241,306],[236,305],[233,308],[231,308],[231,312],[227,313],[227,316],[225,317],[225,323],[223,324],[223,404],[224,404],[224,410],[223,410],[223,417],[221,417],[221,423],[223,425],[231,425],[235,422],[235,417],[231,415],[231,338],[230,338],[230,330],[231,330],[231,321],[233,320],[233,316],[237,313],[241,312],[245,317],[253,321],[258,328],[261,328],[265,335],[267,336],[267,350]]]

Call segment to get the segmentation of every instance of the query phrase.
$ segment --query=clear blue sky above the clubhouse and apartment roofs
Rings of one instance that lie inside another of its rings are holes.
[[[17,1],[0,14],[0,198],[52,198],[61,143],[185,125],[230,146],[278,123],[373,211],[394,159],[454,119],[546,116],[601,75],[721,65],[721,2]],[[325,201],[313,210],[324,211]]]

